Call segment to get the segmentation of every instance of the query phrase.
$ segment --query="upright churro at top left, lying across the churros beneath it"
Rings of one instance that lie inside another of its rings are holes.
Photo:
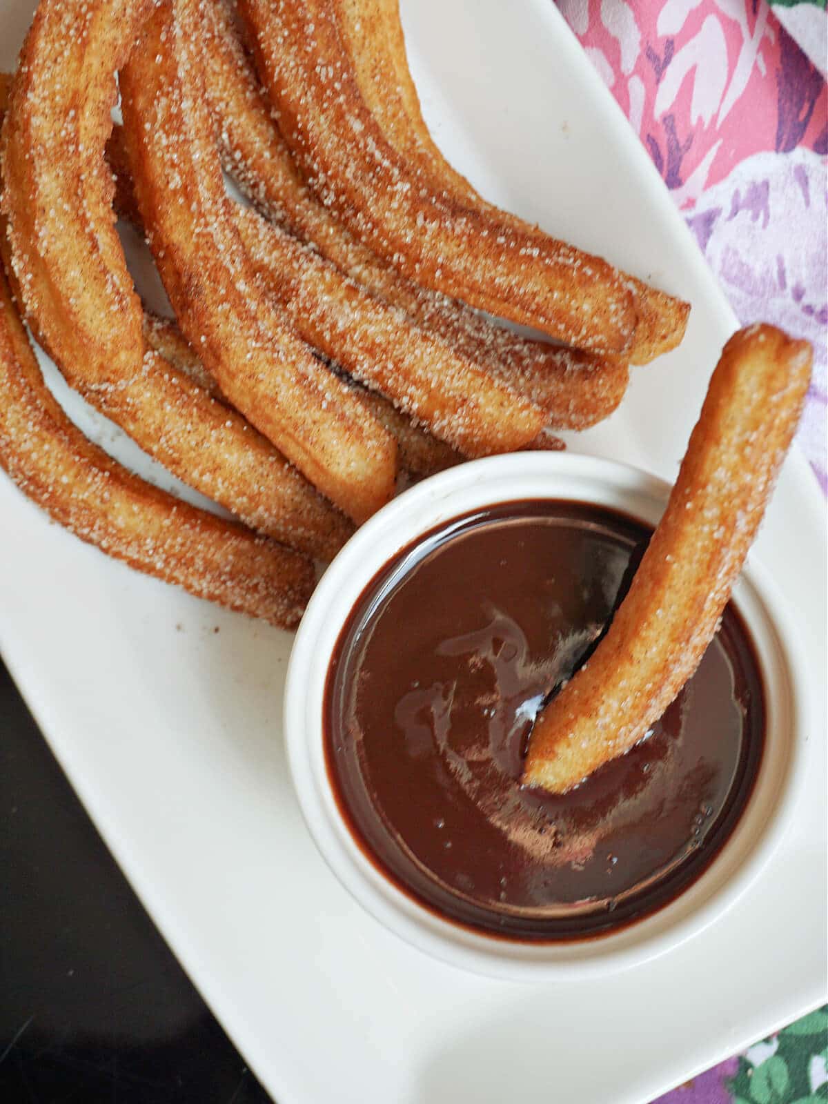
[[[148,10],[148,0],[39,4],[3,126],[3,211],[22,306],[63,370],[77,365],[94,382],[131,379],[145,352],[99,155],[113,73]]]

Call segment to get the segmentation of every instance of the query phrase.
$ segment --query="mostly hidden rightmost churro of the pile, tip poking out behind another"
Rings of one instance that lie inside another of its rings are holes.
[[[446,160],[428,131],[408,70],[399,0],[337,0],[339,26],[360,93],[401,157],[416,163],[439,194],[453,195],[516,231],[545,235],[485,200]],[[638,322],[633,363],[646,364],[675,349],[687,329],[690,305],[629,277]]]

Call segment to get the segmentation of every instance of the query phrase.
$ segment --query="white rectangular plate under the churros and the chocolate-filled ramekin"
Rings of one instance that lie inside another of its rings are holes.
[[[0,0],[3,67],[32,7]],[[572,442],[672,479],[735,319],[646,152],[551,0],[403,0],[403,15],[426,115],[484,192],[691,300],[681,349],[636,371],[623,408]],[[799,456],[753,559],[794,612],[804,677],[821,686],[825,508]],[[825,999],[824,702],[795,822],[726,915],[635,972],[523,985],[432,962],[327,869],[279,733],[290,645],[106,560],[0,477],[0,649],[278,1104],[640,1104]]]

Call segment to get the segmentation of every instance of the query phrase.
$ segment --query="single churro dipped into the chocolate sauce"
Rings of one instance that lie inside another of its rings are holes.
[[[772,326],[724,347],[678,480],[588,662],[538,718],[523,782],[564,793],[641,740],[698,667],[758,529],[810,380]]]

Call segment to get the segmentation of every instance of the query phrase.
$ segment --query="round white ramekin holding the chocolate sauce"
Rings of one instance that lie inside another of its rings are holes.
[[[767,728],[758,776],[736,828],[711,866],[652,915],[608,935],[541,945],[468,931],[422,907],[380,873],[337,807],[322,745],[326,676],[351,608],[381,567],[436,526],[498,502],[593,502],[655,524],[668,493],[667,484],[635,468],[570,453],[517,453],[464,464],[418,484],[376,513],[319,583],[294,644],[285,692],[294,786],[310,834],[337,878],[367,912],[422,951],[455,966],[527,980],[633,966],[715,921],[756,878],[782,838],[803,775],[806,664],[789,614],[755,563],[743,572],[734,599],[753,638],[765,686]],[[365,923],[371,923],[369,917]]]

